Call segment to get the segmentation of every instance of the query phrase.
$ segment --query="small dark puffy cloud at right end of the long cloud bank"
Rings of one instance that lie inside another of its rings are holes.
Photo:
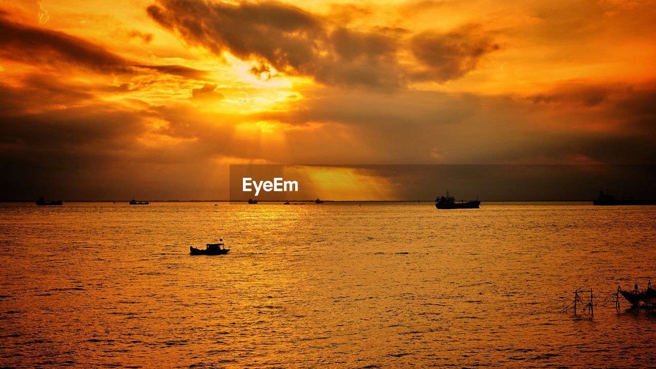
[[[422,32],[413,35],[410,49],[427,69],[415,73],[418,79],[448,81],[476,69],[485,54],[499,45],[487,35],[477,34],[475,27],[449,33]]]

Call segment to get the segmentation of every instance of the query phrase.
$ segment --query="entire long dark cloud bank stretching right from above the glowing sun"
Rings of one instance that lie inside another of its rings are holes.
[[[335,27],[337,18],[274,2],[158,0],[147,11],[189,45],[216,55],[227,51],[243,60],[255,59],[283,73],[314,77],[327,85],[395,89],[404,86],[409,76],[447,81],[470,72],[480,58],[498,49],[489,37],[473,32],[474,28],[420,33],[408,44],[410,32],[403,28]],[[400,61],[400,54],[408,49],[425,68],[416,71]]]

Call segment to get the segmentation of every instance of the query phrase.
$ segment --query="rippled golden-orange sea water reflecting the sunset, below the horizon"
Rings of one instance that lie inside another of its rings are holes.
[[[0,204],[0,366],[656,366],[656,207]],[[219,237],[225,256],[190,256]],[[594,318],[560,309],[594,288]]]

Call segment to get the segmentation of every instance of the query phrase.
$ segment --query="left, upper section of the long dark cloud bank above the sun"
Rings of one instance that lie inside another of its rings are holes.
[[[215,54],[226,49],[241,58],[258,56],[278,70],[304,70],[323,37],[318,18],[281,3],[165,0],[150,5],[147,11],[191,45]]]

